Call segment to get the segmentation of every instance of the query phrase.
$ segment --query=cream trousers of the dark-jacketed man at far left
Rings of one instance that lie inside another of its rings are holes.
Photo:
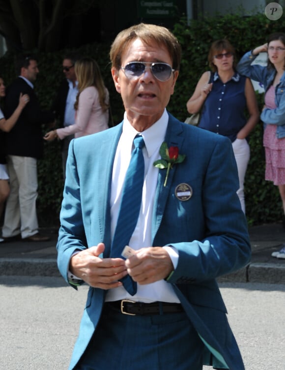
[[[2,236],[21,234],[27,238],[38,232],[36,215],[37,161],[35,158],[8,155],[10,194],[7,199]]]

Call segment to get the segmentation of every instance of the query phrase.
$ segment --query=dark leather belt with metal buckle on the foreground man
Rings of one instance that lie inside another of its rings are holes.
[[[162,315],[164,313],[183,312],[183,308],[179,303],[142,303],[123,299],[121,301],[106,302],[106,304],[126,315]]]

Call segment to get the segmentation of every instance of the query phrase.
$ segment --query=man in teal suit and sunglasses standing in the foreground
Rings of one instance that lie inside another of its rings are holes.
[[[231,143],[167,112],[181,58],[170,31],[133,26],[110,56],[124,119],[71,142],[60,213],[59,270],[90,286],[69,369],[242,370],[215,280],[251,254]],[[127,192],[140,210],[125,259],[113,241],[138,135],[144,178],[142,195]]]

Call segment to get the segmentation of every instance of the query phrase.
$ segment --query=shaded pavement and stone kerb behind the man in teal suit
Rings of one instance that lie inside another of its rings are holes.
[[[57,229],[41,229],[48,242],[0,243],[0,275],[59,276],[56,264]],[[221,282],[285,283],[285,259],[271,257],[285,243],[282,224],[264,224],[249,229],[252,260],[244,269],[219,278]]]

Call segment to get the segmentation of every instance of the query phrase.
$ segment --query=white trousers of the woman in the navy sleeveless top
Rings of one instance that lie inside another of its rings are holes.
[[[245,200],[244,200],[244,178],[247,169],[247,165],[250,159],[250,147],[246,139],[235,139],[232,143],[232,149],[237,165],[239,189],[237,195],[240,200],[241,209],[245,214]]]

